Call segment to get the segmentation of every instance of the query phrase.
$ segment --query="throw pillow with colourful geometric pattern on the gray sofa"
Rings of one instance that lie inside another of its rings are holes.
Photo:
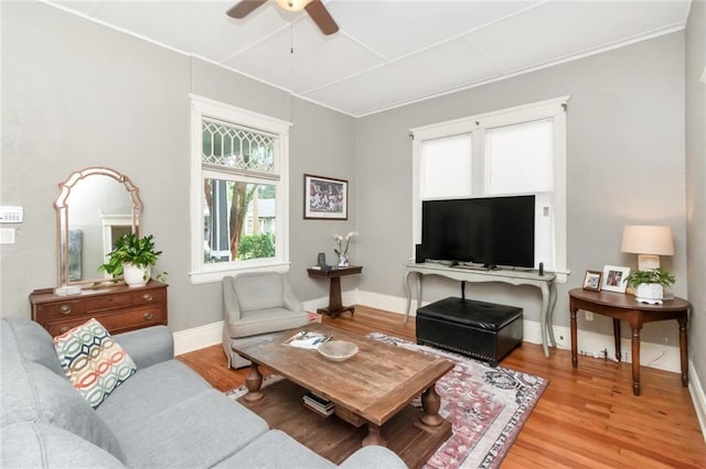
[[[68,381],[94,408],[137,370],[95,318],[54,337],[54,348]]]

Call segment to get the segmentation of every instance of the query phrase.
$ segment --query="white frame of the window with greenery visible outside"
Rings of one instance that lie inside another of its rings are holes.
[[[258,112],[215,101],[190,94],[191,98],[191,283],[220,282],[224,276],[244,271],[289,270],[289,128],[290,122],[271,118]],[[253,178],[256,184],[274,184],[277,190],[276,204],[276,255],[268,259],[253,259],[237,262],[203,261],[204,194],[203,178],[227,178],[214,170],[204,170],[202,164],[202,120],[217,119],[239,127],[247,127],[266,133],[276,134],[279,145],[275,154],[275,168],[278,178]]]

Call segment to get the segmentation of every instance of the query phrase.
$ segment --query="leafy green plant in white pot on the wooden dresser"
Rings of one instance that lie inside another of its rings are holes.
[[[143,286],[161,253],[154,248],[152,234],[140,238],[136,233],[126,233],[115,241],[115,248],[108,252],[108,262],[100,265],[98,272],[104,271],[114,277],[122,274],[129,286]]]

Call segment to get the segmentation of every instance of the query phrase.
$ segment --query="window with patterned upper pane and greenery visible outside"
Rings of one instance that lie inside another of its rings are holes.
[[[192,283],[287,270],[289,123],[192,96]]]

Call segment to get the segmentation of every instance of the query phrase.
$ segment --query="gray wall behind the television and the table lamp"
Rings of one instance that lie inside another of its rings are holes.
[[[360,119],[359,226],[365,233],[361,260],[368,266],[361,290],[404,296],[403,265],[413,252],[410,128],[565,95],[571,275],[558,287],[555,324],[568,326],[567,291],[582,284],[587,269],[637,268],[637,255],[620,252],[629,223],[672,227],[675,255],[662,265],[676,275],[676,294],[685,296],[683,32]],[[539,320],[536,288],[475,284],[467,292],[523,306],[526,318]],[[425,301],[450,294],[459,295],[457,283],[425,280]],[[606,317],[580,317],[579,326],[612,334]],[[676,346],[676,329],[648,324],[643,338],[663,343],[667,336]]]

